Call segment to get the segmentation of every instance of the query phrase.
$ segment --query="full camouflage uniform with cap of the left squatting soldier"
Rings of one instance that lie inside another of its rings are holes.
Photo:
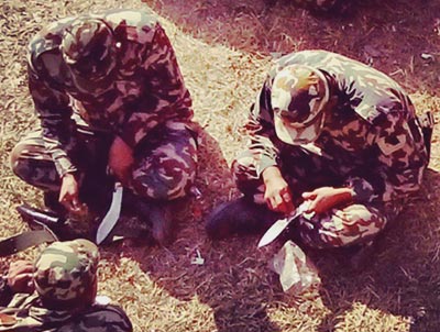
[[[105,38],[106,30],[111,40]],[[90,38],[90,31],[102,40],[101,48],[91,49],[73,71],[68,65],[79,57],[80,38]],[[48,25],[29,47],[29,87],[42,130],[12,153],[20,178],[57,191],[66,173],[105,173],[118,135],[134,151],[132,189],[138,195],[170,200],[188,192],[197,163],[191,100],[153,16],[113,10],[67,18]],[[103,78],[97,74],[102,66]]]

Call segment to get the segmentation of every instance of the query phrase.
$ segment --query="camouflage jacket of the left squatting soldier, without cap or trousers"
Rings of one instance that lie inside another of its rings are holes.
[[[91,16],[103,20],[117,38],[117,67],[109,87],[84,90],[72,79],[61,43],[75,18],[50,24],[29,45],[29,88],[59,175],[77,170],[67,154],[75,145],[73,115],[119,135],[132,147],[157,124],[193,118],[173,47],[154,16],[130,10]]]

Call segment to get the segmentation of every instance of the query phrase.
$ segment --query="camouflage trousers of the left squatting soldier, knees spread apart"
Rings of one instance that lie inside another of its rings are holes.
[[[69,157],[79,169],[79,178],[94,187],[100,186],[108,179],[108,152],[113,137],[82,126],[77,128],[75,137]],[[28,184],[45,191],[59,191],[61,179],[41,131],[18,143],[11,154],[11,166]],[[145,199],[177,199],[189,192],[196,168],[196,134],[185,123],[167,122],[155,128],[134,148],[131,189]]]

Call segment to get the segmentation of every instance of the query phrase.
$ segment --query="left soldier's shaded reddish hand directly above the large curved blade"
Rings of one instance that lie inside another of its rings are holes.
[[[110,146],[109,167],[125,187],[131,181],[133,163],[133,150],[121,137],[117,136]]]

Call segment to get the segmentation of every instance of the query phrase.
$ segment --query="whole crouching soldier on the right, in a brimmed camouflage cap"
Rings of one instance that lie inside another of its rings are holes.
[[[263,231],[308,201],[294,236],[311,247],[371,242],[420,186],[428,142],[407,93],[342,55],[304,51],[276,62],[233,163],[243,198],[209,218],[212,239]],[[424,129],[425,132],[425,129]]]

